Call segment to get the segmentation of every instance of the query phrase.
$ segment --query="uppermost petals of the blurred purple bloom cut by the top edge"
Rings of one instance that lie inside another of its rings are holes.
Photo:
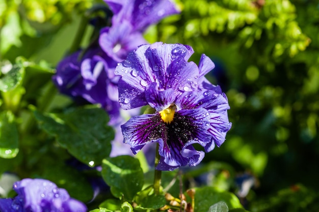
[[[104,0],[114,13],[112,25],[126,20],[132,31],[144,32],[146,28],[166,16],[179,13],[169,0]]]

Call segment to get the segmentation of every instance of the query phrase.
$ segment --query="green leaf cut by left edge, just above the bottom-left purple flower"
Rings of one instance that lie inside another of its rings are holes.
[[[11,111],[0,113],[0,157],[14,158],[19,152],[18,129]]]

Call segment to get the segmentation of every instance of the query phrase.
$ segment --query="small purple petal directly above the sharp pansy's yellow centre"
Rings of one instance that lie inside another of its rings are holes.
[[[176,99],[176,94],[172,88],[166,90],[158,90],[157,84],[153,82],[145,91],[145,97],[148,104],[161,111],[168,108]]]

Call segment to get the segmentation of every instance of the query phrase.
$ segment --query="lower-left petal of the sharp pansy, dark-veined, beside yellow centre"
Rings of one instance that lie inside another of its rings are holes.
[[[130,118],[121,128],[124,143],[137,154],[146,143],[165,138],[167,127],[159,114],[143,114]]]

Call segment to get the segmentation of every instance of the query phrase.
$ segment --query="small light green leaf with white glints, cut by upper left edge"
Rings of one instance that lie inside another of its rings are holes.
[[[19,85],[23,79],[24,68],[22,64],[15,64],[11,66],[9,64],[6,65],[7,68],[11,68],[8,72],[5,71],[4,76],[0,78],[0,90],[2,92],[8,92],[9,90],[14,89],[17,85]],[[4,69],[2,68],[2,73]]]

